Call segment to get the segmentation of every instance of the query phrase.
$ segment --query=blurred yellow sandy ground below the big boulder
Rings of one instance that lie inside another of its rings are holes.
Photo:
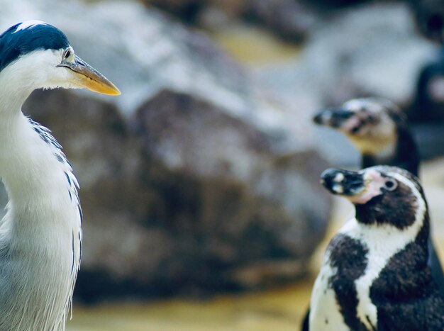
[[[161,301],[146,305],[76,308],[69,331],[270,331],[297,330],[311,280],[291,287],[209,301]]]

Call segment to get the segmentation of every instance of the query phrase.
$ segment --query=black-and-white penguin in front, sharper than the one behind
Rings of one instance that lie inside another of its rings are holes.
[[[428,207],[404,169],[328,169],[331,193],[355,218],[331,240],[313,286],[309,330],[444,330],[444,301],[431,276]]]

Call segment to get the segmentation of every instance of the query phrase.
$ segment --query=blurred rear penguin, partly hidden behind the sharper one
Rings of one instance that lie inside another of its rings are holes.
[[[406,116],[394,103],[377,98],[352,99],[339,108],[321,111],[313,120],[345,133],[361,152],[362,168],[387,164],[418,176],[418,148]],[[444,297],[443,268],[431,239],[429,253],[428,264]]]

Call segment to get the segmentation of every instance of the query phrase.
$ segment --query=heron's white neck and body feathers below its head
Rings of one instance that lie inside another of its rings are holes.
[[[0,72],[0,177],[9,196],[0,330],[64,330],[81,254],[77,181],[49,131],[21,113],[33,89],[5,82],[8,69]]]

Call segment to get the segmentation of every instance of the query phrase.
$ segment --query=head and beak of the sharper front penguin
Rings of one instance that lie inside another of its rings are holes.
[[[360,223],[390,224],[402,229],[427,213],[418,179],[398,167],[376,166],[358,172],[327,169],[321,175],[321,184],[352,202]]]

